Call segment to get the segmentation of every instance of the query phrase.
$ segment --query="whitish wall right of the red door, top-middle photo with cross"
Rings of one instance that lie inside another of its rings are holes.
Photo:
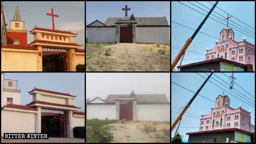
[[[136,27],[136,43],[169,43],[170,27]]]

